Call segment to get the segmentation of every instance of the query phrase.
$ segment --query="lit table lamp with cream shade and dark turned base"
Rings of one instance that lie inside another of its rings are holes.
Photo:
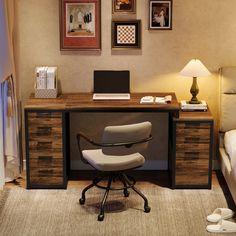
[[[192,59],[181,71],[180,74],[187,77],[193,77],[193,83],[190,89],[190,93],[192,94],[192,98],[188,103],[190,104],[199,104],[201,101],[197,99],[197,94],[199,92],[199,88],[197,85],[197,77],[200,76],[208,76],[211,73],[209,70],[202,64],[202,62],[198,59]]]

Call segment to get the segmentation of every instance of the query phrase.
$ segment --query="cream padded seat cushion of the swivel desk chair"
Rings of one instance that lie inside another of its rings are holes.
[[[145,162],[140,153],[123,156],[106,155],[101,149],[82,151],[84,159],[100,171],[122,171],[142,166]]]

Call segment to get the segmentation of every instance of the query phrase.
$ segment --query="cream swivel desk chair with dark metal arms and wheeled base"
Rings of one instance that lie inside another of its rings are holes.
[[[127,176],[125,171],[138,168],[144,164],[145,158],[139,152],[145,149],[152,139],[151,129],[152,124],[148,121],[131,125],[108,126],[104,129],[101,143],[94,142],[81,132],[77,134],[82,161],[102,173],[82,191],[80,198],[80,204],[83,205],[85,203],[85,192],[93,186],[106,190],[98,215],[99,221],[104,219],[104,206],[110,190],[123,190],[124,196],[128,197],[128,189],[132,188],[143,198],[144,211],[150,212],[151,208],[148,206],[147,198],[134,186],[136,182],[134,178]],[[82,150],[81,138],[98,146],[99,149]],[[99,185],[99,182],[105,178],[108,178],[107,186]],[[112,181],[117,179],[123,184],[122,188],[111,187]]]

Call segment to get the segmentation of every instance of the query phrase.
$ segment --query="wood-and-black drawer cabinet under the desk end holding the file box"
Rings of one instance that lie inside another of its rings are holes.
[[[64,113],[25,111],[27,188],[65,188]]]

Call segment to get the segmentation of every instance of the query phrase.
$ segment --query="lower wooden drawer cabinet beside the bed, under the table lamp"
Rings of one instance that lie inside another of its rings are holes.
[[[173,119],[172,187],[210,188],[213,118],[210,112],[180,112]]]

